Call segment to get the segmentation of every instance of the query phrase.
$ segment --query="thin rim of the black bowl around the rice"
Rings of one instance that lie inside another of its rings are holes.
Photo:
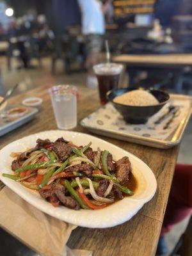
[[[128,87],[128,88],[129,88],[129,87]],[[157,106],[161,106],[161,105],[166,104],[166,103],[170,100],[170,95],[169,95],[168,93],[163,92],[163,91],[161,91],[161,90],[155,90],[155,89],[152,89],[152,88],[147,89],[147,90],[145,90],[145,91],[162,92],[162,93],[164,93],[164,94],[166,94],[166,95],[168,96],[168,99],[165,100],[165,101],[163,101],[163,102],[160,102],[159,104],[150,105],[150,106],[132,106],[132,105],[125,105],[125,104],[116,103],[116,102],[114,102],[113,100],[110,100],[110,99],[109,99],[109,94],[110,94],[111,92],[113,92],[113,90],[121,90],[121,89],[128,89],[128,88],[116,88],[116,89],[112,89],[112,90],[108,91],[108,92],[106,93],[107,99],[108,99],[110,102],[112,102],[113,104],[116,104],[116,105],[122,106],[122,107],[129,107],[129,108],[151,108],[151,107],[157,107]],[[129,89],[138,90],[138,88],[129,88]],[[142,90],[143,90],[143,89],[142,89]]]

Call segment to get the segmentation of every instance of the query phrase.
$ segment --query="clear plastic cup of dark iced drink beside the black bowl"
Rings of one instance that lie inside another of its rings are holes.
[[[102,63],[93,67],[98,80],[100,103],[102,105],[108,101],[106,93],[109,90],[118,88],[122,69],[123,65],[117,63]]]

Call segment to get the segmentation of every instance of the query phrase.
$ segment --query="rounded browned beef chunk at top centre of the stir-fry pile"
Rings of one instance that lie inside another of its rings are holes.
[[[61,161],[65,161],[72,154],[72,148],[63,141],[55,141],[52,150]]]

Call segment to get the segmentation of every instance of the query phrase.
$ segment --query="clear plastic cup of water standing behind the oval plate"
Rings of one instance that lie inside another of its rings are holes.
[[[52,108],[59,129],[73,129],[77,125],[77,88],[57,85],[49,88]]]

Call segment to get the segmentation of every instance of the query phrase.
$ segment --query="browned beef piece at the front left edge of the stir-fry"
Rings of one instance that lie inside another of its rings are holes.
[[[79,204],[77,204],[76,200],[74,200],[71,196],[66,196],[66,192],[65,187],[56,182],[52,182],[50,189],[39,190],[39,193],[43,198],[49,199],[51,196],[54,196],[55,199],[57,198],[61,204],[65,205],[66,207],[79,210]]]

